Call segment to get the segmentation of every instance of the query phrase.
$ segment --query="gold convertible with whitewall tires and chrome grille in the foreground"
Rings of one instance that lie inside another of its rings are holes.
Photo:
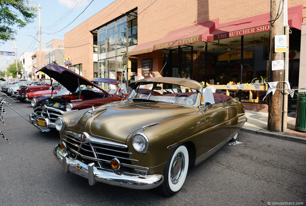
[[[181,189],[188,168],[230,140],[245,122],[230,96],[181,78],[152,77],[129,84],[124,101],[64,112],[56,119],[53,153],[65,173],[133,189]]]

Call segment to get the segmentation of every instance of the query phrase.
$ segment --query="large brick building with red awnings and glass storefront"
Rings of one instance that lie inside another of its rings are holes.
[[[301,81],[306,63],[300,62],[306,52],[300,48],[305,41],[304,7],[302,0],[288,0],[289,82],[299,88],[306,87]],[[263,0],[116,0],[65,34],[65,57],[71,58],[70,68],[78,68],[88,79],[101,76],[131,82],[161,72],[161,76],[221,85],[239,82],[242,66],[242,83],[265,81],[269,12],[270,2]],[[230,95],[237,97],[236,93]],[[243,93],[241,101],[266,103],[264,95],[251,93]]]

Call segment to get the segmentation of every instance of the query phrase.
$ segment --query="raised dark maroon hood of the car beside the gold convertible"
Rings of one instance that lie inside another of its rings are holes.
[[[54,80],[61,83],[71,93],[75,92],[76,88],[79,87],[79,84],[77,81],[79,79],[80,85],[84,84],[84,85],[96,87],[99,90],[101,90],[103,93],[108,94],[105,90],[95,85],[88,79],[85,79],[83,76],[80,76],[77,73],[71,71],[70,69],[66,69],[65,67],[60,66],[60,65],[48,64],[47,66],[44,66],[42,69],[39,69],[37,72],[46,73],[48,76],[50,76],[50,78],[53,78]]]

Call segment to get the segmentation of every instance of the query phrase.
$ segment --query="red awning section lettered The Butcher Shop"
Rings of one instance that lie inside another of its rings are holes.
[[[288,24],[301,30],[303,5],[288,8]],[[247,34],[270,31],[270,12],[236,21],[219,24],[207,36],[207,41],[226,39]]]

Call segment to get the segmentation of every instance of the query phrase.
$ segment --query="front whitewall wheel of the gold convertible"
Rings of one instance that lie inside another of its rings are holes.
[[[183,186],[189,164],[188,150],[181,145],[174,150],[164,170],[164,181],[157,188],[160,194],[171,197]]]

